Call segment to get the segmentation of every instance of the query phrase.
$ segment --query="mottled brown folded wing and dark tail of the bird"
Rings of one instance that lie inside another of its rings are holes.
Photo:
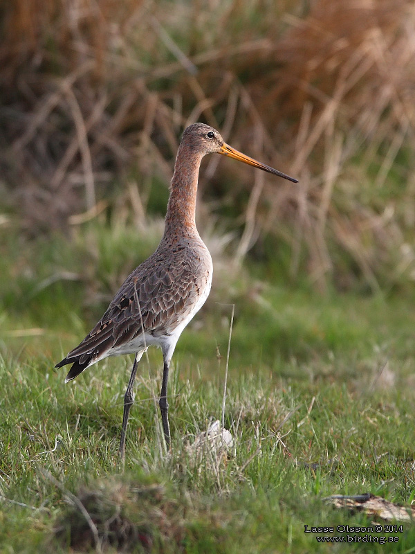
[[[70,374],[78,375],[143,330],[155,336],[168,333],[192,310],[208,273],[200,251],[158,249],[127,277],[97,325],[56,367],[75,362]],[[70,374],[67,379],[76,377]]]

